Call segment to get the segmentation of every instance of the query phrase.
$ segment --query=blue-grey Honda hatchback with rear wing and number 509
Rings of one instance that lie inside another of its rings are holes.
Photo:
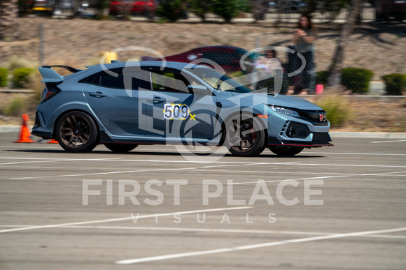
[[[63,77],[55,67],[72,74]],[[45,82],[32,135],[70,152],[104,144],[226,146],[235,156],[279,156],[331,146],[325,111],[301,98],[255,93],[213,68],[140,61],[38,68]]]

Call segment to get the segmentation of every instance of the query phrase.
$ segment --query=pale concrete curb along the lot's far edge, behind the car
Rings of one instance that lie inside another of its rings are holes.
[[[0,126],[0,133],[19,132],[21,126]],[[386,132],[338,132],[331,131],[331,137],[336,138],[371,138],[371,139],[406,139],[406,133]]]

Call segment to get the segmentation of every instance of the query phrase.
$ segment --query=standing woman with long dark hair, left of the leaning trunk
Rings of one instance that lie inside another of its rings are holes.
[[[300,52],[306,60],[304,70],[295,78],[295,93],[314,93],[314,40],[316,40],[317,30],[311,22],[309,15],[301,15],[298,28],[293,33],[292,42],[295,51]],[[301,66],[301,64],[299,65]]]

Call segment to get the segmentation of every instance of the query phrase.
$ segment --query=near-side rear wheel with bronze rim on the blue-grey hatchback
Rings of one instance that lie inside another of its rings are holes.
[[[66,112],[59,119],[56,140],[69,152],[90,152],[97,146],[98,130],[92,117],[84,112]]]

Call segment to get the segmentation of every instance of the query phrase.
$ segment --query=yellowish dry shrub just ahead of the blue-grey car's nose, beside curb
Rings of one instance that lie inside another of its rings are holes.
[[[323,96],[316,104],[327,112],[326,118],[332,128],[339,128],[345,121],[351,119],[351,105],[338,93]]]

